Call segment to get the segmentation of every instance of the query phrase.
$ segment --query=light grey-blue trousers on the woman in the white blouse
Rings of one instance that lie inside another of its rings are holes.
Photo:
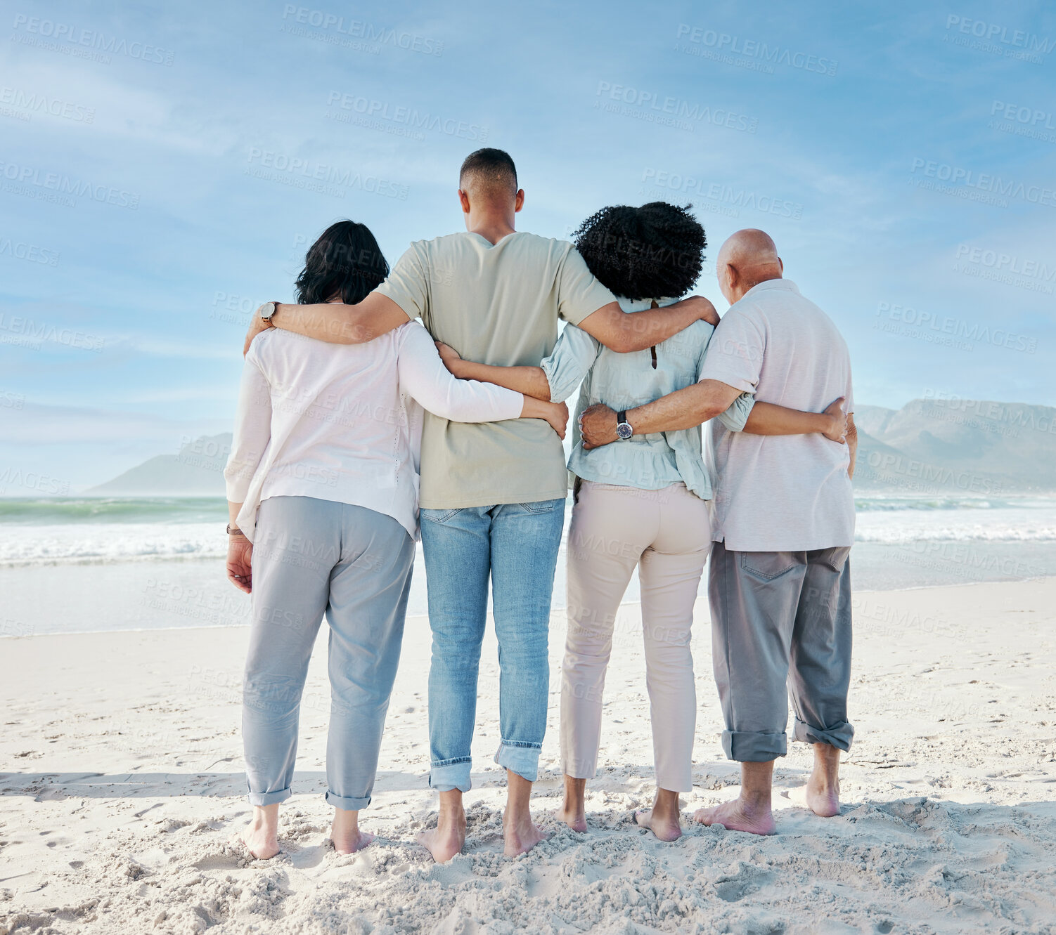
[[[413,564],[414,540],[391,516],[314,497],[261,503],[242,707],[250,803],[289,798],[301,694],[325,613],[326,801],[370,804]]]

